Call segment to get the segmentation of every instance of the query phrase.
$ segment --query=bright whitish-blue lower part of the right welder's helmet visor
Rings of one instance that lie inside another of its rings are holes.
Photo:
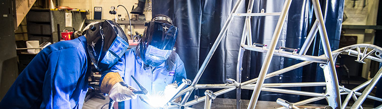
[[[171,52],[171,50],[161,50],[149,45],[145,53],[145,64],[159,66],[169,58]]]

